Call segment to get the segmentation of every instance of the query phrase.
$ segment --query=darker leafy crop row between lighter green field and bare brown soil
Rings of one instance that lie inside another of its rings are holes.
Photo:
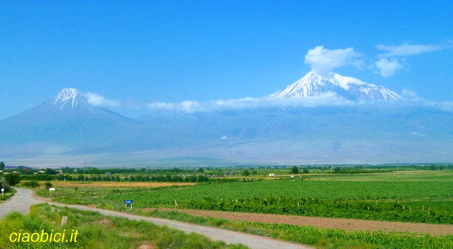
[[[347,219],[420,222],[434,224],[452,224],[451,212],[429,211],[428,208],[408,207],[394,203],[394,205],[380,205],[364,201],[330,201],[305,198],[274,198],[264,199],[236,199],[214,200],[203,198],[201,200],[188,200],[179,203],[180,207],[198,210],[231,211],[245,213],[283,214],[311,217],[333,217]]]

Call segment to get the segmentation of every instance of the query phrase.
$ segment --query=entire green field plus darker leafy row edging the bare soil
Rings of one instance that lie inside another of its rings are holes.
[[[103,199],[133,199],[137,208],[172,205],[176,199],[187,209],[451,224],[453,208],[433,209],[430,201],[453,198],[452,188],[447,181],[237,181],[113,193]],[[399,203],[414,199],[420,203]]]

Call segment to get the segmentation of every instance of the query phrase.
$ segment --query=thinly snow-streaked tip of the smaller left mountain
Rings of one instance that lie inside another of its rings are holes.
[[[63,110],[71,109],[88,109],[94,112],[94,107],[88,104],[83,95],[73,88],[65,88],[61,90],[53,99],[55,109]]]

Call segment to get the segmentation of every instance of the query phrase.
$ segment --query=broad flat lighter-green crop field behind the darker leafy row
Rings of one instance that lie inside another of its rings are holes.
[[[174,200],[214,200],[282,196],[321,200],[445,200],[453,199],[453,181],[255,181],[202,184],[187,188],[112,194],[111,200],[134,199],[138,207],[171,204]]]

